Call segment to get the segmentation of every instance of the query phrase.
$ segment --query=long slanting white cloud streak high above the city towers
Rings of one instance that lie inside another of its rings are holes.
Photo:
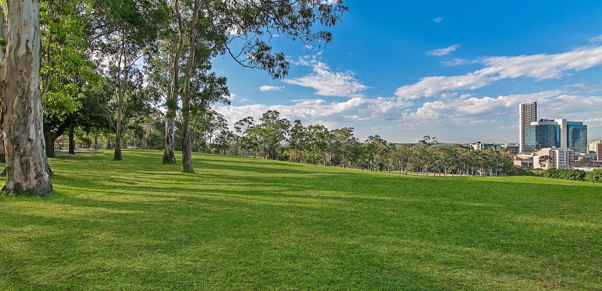
[[[486,67],[465,75],[422,78],[412,85],[399,87],[395,94],[402,99],[417,99],[450,91],[473,90],[507,78],[560,78],[573,71],[602,64],[602,46],[577,48],[556,54],[489,57],[483,58],[482,63]]]

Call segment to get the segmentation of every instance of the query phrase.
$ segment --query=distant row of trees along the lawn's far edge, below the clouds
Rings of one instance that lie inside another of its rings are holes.
[[[192,125],[192,149],[199,152],[423,175],[501,175],[516,170],[511,151],[443,146],[430,136],[408,144],[387,142],[378,135],[360,141],[351,127],[329,130],[324,125],[304,126],[300,120],[291,123],[273,110],[257,120],[243,118],[232,130],[224,116],[213,110],[196,116]],[[182,139],[181,126],[176,119],[176,141]],[[138,131],[131,142],[149,145],[152,136]]]

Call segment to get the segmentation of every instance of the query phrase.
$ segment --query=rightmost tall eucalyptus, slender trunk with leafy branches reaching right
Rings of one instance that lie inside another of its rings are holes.
[[[347,11],[342,0],[266,0],[221,1],[190,0],[191,16],[188,35],[188,56],[183,82],[182,115],[184,172],[192,172],[192,148],[190,132],[190,72],[197,57],[197,44],[203,54],[230,55],[243,67],[262,69],[273,78],[284,78],[289,71],[289,60],[284,53],[275,53],[268,44],[277,33],[304,44],[322,45],[330,42],[327,30],[316,28],[336,25]],[[179,30],[184,35],[183,26]],[[235,51],[235,48],[240,48]]]

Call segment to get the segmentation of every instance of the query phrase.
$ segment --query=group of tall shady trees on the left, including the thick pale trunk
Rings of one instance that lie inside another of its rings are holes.
[[[157,119],[163,162],[176,162],[178,121],[183,171],[194,171],[194,131],[229,102],[212,59],[284,78],[289,61],[271,37],[322,46],[346,11],[342,0],[0,1],[3,191],[52,193],[47,157],[63,134],[71,153],[75,132],[114,136],[120,160],[124,133],[153,132]]]

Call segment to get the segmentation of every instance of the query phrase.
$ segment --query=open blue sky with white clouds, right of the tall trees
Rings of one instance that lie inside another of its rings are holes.
[[[234,123],[276,109],[365,139],[516,142],[518,104],[584,121],[602,138],[602,1],[360,1],[324,47],[271,42],[289,76],[217,58]]]

